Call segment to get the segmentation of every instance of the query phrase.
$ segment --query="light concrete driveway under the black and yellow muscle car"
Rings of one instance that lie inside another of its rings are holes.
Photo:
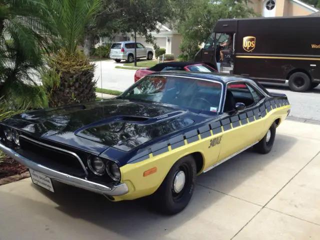
[[[272,152],[246,151],[197,178],[191,202],[163,216],[143,199],[109,202],[29,178],[0,186],[0,239],[319,239],[320,126],[286,120]]]

